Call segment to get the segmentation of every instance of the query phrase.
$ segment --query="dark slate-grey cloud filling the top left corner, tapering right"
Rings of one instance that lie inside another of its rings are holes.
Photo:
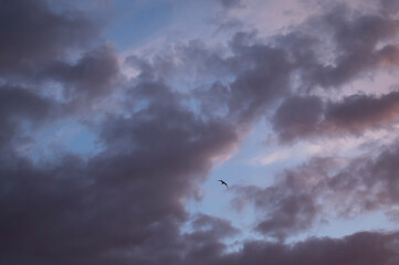
[[[2,0],[0,74],[35,72],[41,63],[78,51],[99,35],[98,25],[76,10],[55,12],[46,1]]]

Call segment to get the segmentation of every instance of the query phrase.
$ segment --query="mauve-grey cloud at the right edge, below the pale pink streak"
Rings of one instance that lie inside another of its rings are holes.
[[[399,150],[393,142],[375,158],[363,157],[351,161],[332,178],[327,184],[334,191],[346,194],[343,212],[372,211],[398,203],[399,181],[396,172]]]

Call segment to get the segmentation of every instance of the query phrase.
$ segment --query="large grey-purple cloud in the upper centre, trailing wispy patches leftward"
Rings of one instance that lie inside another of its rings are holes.
[[[227,49],[231,49],[232,54]],[[198,85],[190,96],[202,107],[202,114],[212,115],[209,110],[213,109],[213,114],[223,114],[240,125],[253,123],[267,113],[279,97],[290,93],[294,70],[285,50],[265,45],[254,32],[234,34],[224,49],[191,41],[151,61],[130,56],[127,64],[140,71],[143,81],[168,81],[179,75],[186,78],[188,73],[209,78],[210,84]]]

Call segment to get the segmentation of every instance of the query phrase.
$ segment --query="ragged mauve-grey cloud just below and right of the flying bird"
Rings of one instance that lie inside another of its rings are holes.
[[[306,231],[319,220],[321,205],[313,191],[315,187],[301,184],[301,181],[306,181],[308,171],[306,168],[295,173],[287,172],[265,189],[234,187],[237,197],[232,202],[241,208],[253,205],[260,215],[254,224],[255,231],[283,241]]]

